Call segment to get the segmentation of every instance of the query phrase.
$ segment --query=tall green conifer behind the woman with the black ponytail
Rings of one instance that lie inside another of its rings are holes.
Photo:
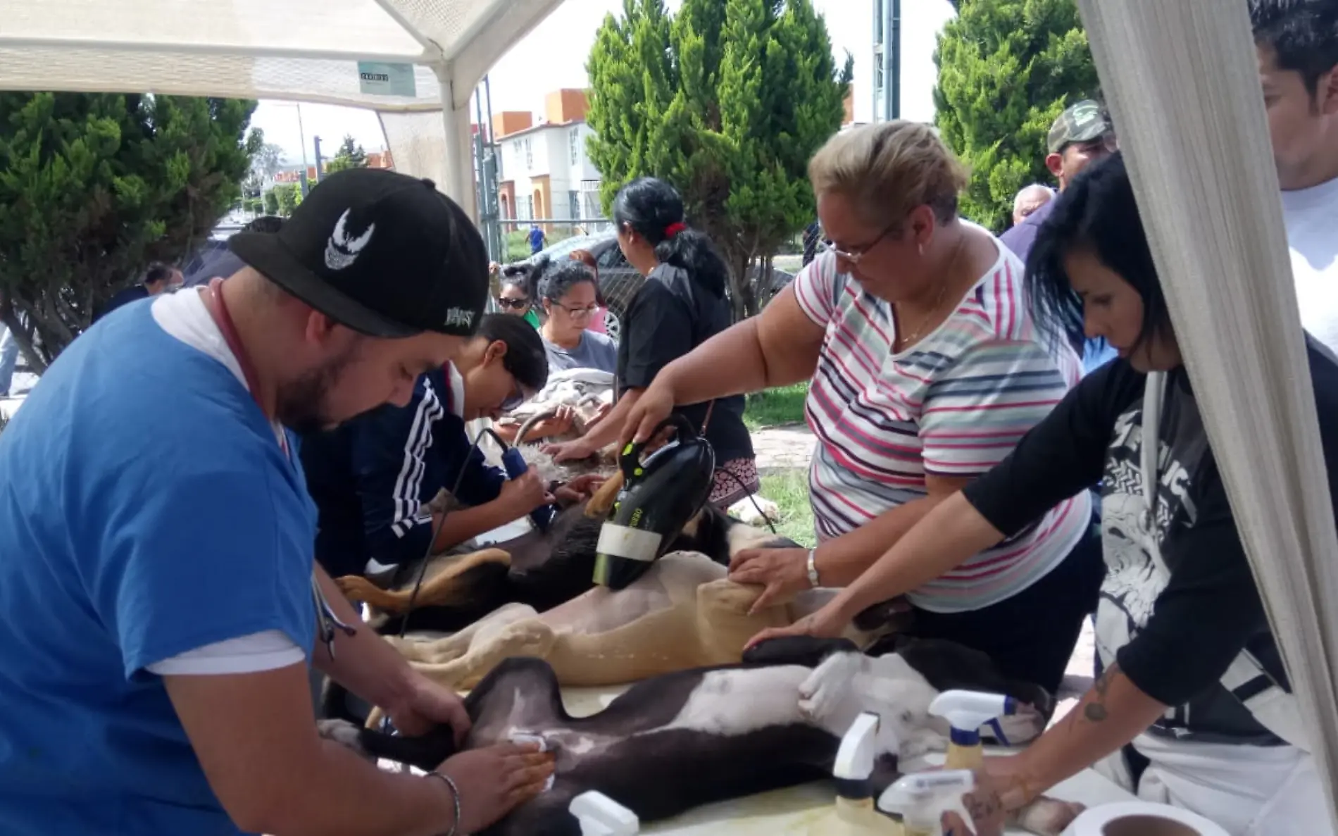
[[[682,194],[729,264],[736,317],[757,312],[753,259],[814,218],[808,158],[840,127],[838,68],[809,0],[624,0],[595,35],[587,150],[605,210],[644,175]]]

